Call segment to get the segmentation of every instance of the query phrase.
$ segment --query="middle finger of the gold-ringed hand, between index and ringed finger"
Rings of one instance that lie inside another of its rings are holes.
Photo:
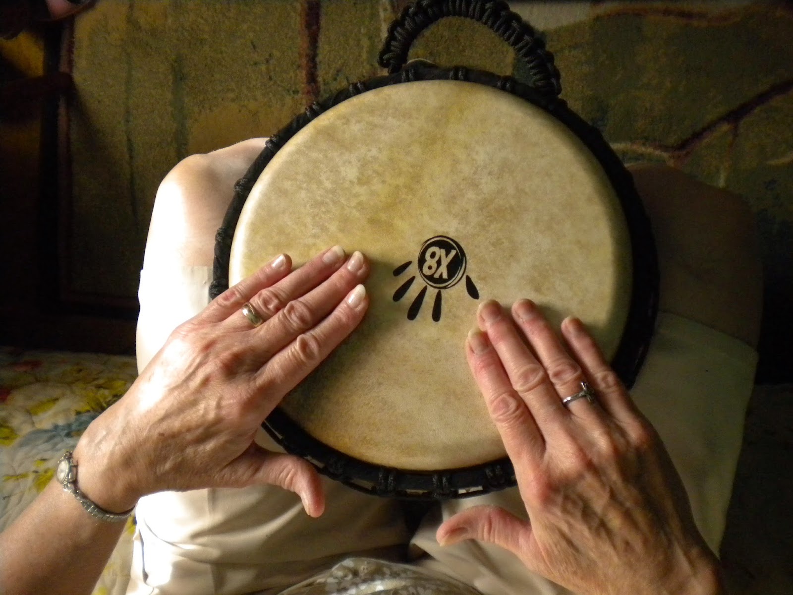
[[[300,271],[295,274],[297,272]],[[254,336],[259,337],[258,351],[262,360],[270,359],[282,347],[327,317],[354,286],[366,279],[367,274],[369,265],[361,252],[356,251],[331,278],[308,294],[291,299],[254,332]]]

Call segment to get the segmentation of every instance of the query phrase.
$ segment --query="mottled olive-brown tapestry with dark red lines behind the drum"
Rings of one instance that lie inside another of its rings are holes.
[[[396,0],[102,0],[77,19],[66,290],[135,307],[155,190],[179,159],[276,131],[375,66]],[[767,279],[760,378],[793,348],[793,8],[751,2],[512,2],[544,31],[563,93],[626,161],[743,194]],[[415,56],[520,76],[485,27],[447,19]]]

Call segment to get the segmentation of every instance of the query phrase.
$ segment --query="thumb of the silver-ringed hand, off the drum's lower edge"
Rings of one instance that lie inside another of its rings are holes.
[[[525,552],[521,547],[531,535],[531,524],[498,506],[473,506],[446,520],[435,533],[442,546],[454,545],[463,539],[478,539],[494,543],[515,554]]]

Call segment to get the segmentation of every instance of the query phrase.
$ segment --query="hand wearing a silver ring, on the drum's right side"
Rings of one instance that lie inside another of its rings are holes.
[[[468,363],[515,466],[528,520],[459,512],[439,543],[480,539],[581,595],[718,593],[718,562],[653,427],[574,318],[565,351],[531,301],[481,305]],[[528,346],[527,346],[528,345]],[[598,403],[562,405],[586,381]]]

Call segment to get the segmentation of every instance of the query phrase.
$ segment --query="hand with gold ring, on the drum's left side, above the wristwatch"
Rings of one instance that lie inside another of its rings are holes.
[[[176,328],[75,448],[86,496],[121,512],[163,490],[274,484],[320,516],[314,467],[254,438],[284,395],[362,320],[369,301],[359,283],[369,267],[360,252],[344,261],[344,251],[331,248],[290,273],[282,255]],[[246,301],[265,319],[258,328],[241,312]]]

